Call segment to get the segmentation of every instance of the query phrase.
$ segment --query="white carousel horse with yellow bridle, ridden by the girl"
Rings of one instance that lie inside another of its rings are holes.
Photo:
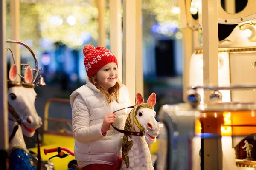
[[[156,142],[160,126],[156,121],[156,94],[152,93],[147,103],[141,94],[136,95],[136,106],[132,109],[126,119],[125,131],[138,132],[138,136],[123,136],[122,157],[123,161],[120,170],[154,170],[148,144]],[[139,133],[142,133],[139,136]]]

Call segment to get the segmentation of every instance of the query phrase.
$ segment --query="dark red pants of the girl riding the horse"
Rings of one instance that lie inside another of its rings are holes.
[[[106,164],[90,164],[81,170],[119,170],[122,164],[122,158],[118,159],[113,165]]]

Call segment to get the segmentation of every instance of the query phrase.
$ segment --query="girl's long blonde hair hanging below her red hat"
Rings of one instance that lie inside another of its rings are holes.
[[[115,99],[115,101],[117,103],[119,103],[119,89],[122,85],[122,83],[117,80],[116,84],[109,88],[108,91],[106,91],[101,85],[99,85],[97,83],[97,78],[96,78],[96,74],[94,74],[92,77],[90,77],[90,82],[92,82],[94,84],[94,82],[96,82],[94,85],[96,86],[96,88],[98,88],[102,94],[105,96],[105,99],[107,101],[108,104],[110,104],[111,102],[113,102],[113,98]],[[112,97],[113,98],[112,98]]]

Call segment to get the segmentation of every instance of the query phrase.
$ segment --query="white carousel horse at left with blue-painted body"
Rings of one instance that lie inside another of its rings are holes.
[[[32,69],[29,66],[26,68],[25,82],[16,82],[16,77],[17,66],[13,65],[8,81],[9,170],[35,170],[22,135],[32,137],[42,125],[35,109],[37,94],[32,82]]]

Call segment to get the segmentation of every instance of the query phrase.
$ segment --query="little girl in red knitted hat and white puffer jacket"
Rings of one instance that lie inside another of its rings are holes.
[[[122,133],[131,105],[128,89],[118,81],[116,57],[104,47],[85,45],[84,65],[88,79],[70,95],[74,153],[82,170],[119,170]]]

